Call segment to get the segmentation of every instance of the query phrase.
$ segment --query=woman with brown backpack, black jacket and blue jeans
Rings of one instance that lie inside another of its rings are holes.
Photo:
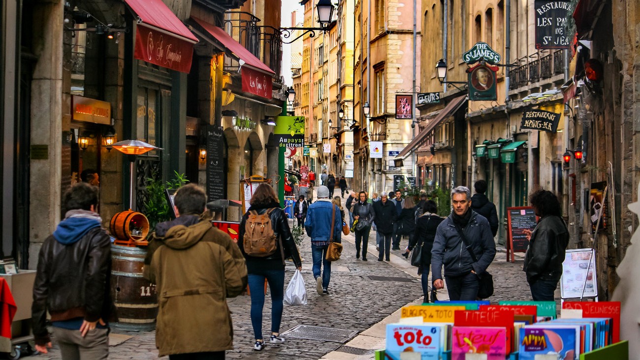
[[[238,245],[246,259],[251,292],[251,324],[255,344],[253,350],[264,348],[262,339],[262,308],[264,307],[264,281],[271,290],[271,343],[284,343],[280,336],[282,301],[284,299],[285,259],[292,258],[296,268],[302,270],[298,247],[291,235],[287,214],[280,208],[273,187],[260,184],[251,200],[251,207],[240,223]],[[260,231],[262,226],[266,230]]]

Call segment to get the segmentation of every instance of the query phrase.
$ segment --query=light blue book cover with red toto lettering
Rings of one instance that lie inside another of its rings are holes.
[[[388,360],[438,360],[442,352],[440,327],[387,324]]]

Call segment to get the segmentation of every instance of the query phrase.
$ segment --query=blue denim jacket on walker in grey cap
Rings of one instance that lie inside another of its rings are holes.
[[[335,207],[335,221],[333,223],[333,241],[340,242],[340,231],[342,231],[342,220],[340,219],[340,209],[333,205],[331,201],[318,199],[309,205],[307,219],[305,220],[305,230],[311,238],[313,245],[329,244],[331,237],[331,213]]]

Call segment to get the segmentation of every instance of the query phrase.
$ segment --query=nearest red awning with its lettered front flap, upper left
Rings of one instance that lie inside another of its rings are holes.
[[[138,17],[134,58],[188,73],[198,42],[162,0],[125,0]]]

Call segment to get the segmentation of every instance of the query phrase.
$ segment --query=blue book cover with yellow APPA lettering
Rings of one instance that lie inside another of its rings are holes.
[[[519,360],[536,360],[536,355],[557,355],[559,360],[575,360],[575,348],[575,329],[543,327],[520,329]]]

